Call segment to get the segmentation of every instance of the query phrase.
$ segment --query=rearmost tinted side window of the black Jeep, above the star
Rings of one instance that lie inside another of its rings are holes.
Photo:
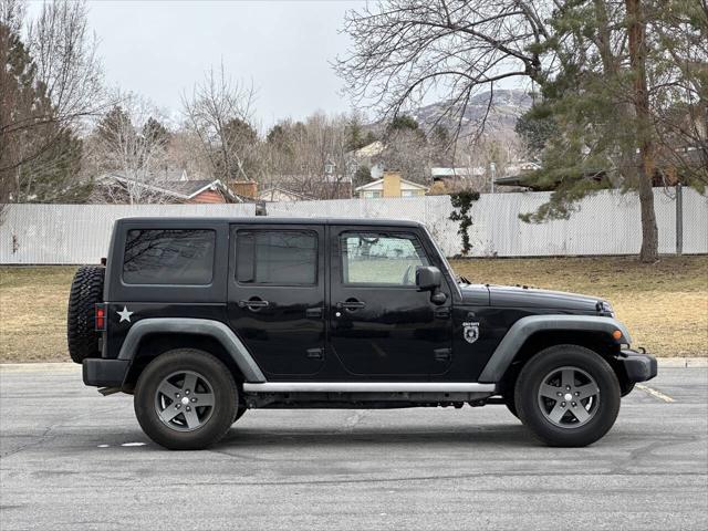
[[[208,229],[129,230],[125,240],[126,284],[210,284],[216,231]]]

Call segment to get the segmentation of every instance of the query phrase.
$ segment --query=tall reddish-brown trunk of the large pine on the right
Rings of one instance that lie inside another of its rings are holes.
[[[643,262],[658,260],[658,229],[654,210],[654,135],[649,110],[649,94],[646,82],[646,22],[641,0],[625,0],[628,18],[629,64],[634,75],[633,104],[636,113],[636,132],[639,145],[638,168],[639,205],[642,209],[642,250]]]

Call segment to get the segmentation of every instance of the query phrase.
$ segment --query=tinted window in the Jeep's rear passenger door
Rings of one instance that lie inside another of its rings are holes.
[[[239,230],[236,274],[241,284],[313,285],[317,282],[317,235]]]

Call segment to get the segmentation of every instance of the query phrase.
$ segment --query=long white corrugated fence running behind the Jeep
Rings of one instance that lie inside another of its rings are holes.
[[[676,252],[674,189],[655,189],[659,252]],[[524,223],[519,214],[548,201],[548,192],[489,194],[472,204],[471,256],[540,257],[636,254],[642,243],[634,194],[586,197],[569,220]],[[683,190],[683,252],[708,252],[708,197]],[[460,252],[458,223],[447,196],[270,202],[268,216],[394,218],[425,223],[444,252]],[[254,205],[10,205],[0,226],[0,263],[96,263],[107,252],[113,221],[134,216],[254,216]]]

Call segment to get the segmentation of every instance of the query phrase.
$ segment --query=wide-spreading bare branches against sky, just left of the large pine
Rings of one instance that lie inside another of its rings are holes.
[[[550,2],[389,0],[350,11],[353,51],[335,69],[357,102],[389,121],[426,97],[446,102],[438,122],[457,123],[469,100],[502,80],[539,80]],[[437,125],[434,124],[434,125]],[[476,132],[483,131],[485,119]]]

